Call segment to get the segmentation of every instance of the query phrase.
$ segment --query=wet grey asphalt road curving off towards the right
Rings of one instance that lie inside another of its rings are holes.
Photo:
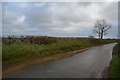
[[[102,78],[116,43],[91,47],[73,56],[31,65],[7,78]]]

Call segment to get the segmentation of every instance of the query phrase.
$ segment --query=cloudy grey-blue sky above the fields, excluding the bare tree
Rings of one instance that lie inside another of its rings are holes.
[[[117,2],[3,2],[2,35],[88,37],[94,23],[112,24],[106,38],[116,38]]]

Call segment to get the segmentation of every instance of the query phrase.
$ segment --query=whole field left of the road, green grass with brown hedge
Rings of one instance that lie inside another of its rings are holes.
[[[115,40],[48,36],[3,37],[2,63],[3,65],[18,63],[112,42]]]

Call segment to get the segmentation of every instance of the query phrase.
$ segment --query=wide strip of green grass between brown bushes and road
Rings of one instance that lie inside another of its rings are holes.
[[[112,40],[98,39],[58,39],[57,42],[39,45],[33,43],[13,43],[2,45],[2,60],[4,64],[23,62],[42,58],[49,55],[60,54],[90,46],[114,42]]]

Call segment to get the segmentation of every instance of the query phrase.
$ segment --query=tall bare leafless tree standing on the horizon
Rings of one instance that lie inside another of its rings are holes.
[[[106,20],[97,20],[94,24],[94,33],[98,34],[100,39],[103,39],[103,35],[108,34],[107,31],[111,28],[111,24]]]

